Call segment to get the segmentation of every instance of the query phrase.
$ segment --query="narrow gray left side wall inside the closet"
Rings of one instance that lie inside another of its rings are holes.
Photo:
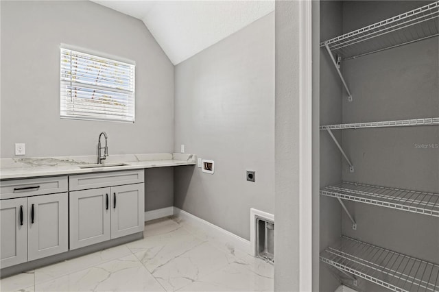
[[[342,34],[342,2],[320,1],[320,40]],[[342,82],[326,49],[320,48],[320,124],[342,122]],[[338,141],[342,133],[334,131]],[[342,155],[326,131],[320,131],[320,186],[342,180]],[[320,196],[320,252],[340,239],[342,208],[337,199]],[[320,263],[320,291],[334,291],[340,281]]]

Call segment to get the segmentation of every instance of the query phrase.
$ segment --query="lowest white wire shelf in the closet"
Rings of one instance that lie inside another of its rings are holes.
[[[439,265],[342,236],[320,260],[391,291],[439,291]]]

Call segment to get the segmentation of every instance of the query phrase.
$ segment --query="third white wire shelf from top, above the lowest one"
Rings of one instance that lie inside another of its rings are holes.
[[[342,182],[322,188],[320,195],[439,217],[439,193]]]

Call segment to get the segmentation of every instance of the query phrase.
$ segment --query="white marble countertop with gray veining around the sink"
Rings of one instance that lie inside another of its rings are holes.
[[[195,165],[197,161],[196,156],[193,154],[126,154],[108,156],[107,159],[102,162],[103,165],[119,162],[126,165],[117,167],[80,168],[80,166],[95,164],[96,159],[96,156],[2,158],[0,160],[0,180],[122,171],[129,169],[149,169],[154,167],[176,167],[180,165]]]

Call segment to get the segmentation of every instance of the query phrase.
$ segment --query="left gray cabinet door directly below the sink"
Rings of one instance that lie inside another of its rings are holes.
[[[110,197],[110,188],[69,193],[70,250],[111,238]]]

